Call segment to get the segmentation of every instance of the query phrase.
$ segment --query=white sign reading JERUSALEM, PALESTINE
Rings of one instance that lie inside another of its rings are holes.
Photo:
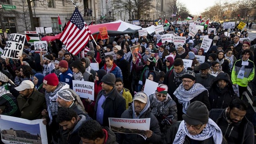
[[[94,82],[82,81],[82,80],[72,80],[73,90],[80,97],[89,98],[94,101]]]

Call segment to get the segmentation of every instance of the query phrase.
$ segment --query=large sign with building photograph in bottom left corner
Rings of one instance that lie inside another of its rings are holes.
[[[0,115],[1,140],[4,144],[48,144],[43,119],[27,120]]]

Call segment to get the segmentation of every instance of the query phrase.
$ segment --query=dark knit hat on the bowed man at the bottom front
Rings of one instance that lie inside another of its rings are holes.
[[[185,122],[191,125],[208,123],[209,111],[201,101],[194,101],[187,107],[187,113],[182,115]]]

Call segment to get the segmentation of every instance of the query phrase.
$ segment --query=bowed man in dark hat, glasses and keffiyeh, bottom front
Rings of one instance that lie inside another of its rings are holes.
[[[203,102],[192,102],[182,118],[183,121],[168,129],[164,144],[226,144],[221,129],[209,118]]]

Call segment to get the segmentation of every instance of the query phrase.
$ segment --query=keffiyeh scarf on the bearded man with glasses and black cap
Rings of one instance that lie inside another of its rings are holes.
[[[201,94],[203,91],[207,91],[207,89],[199,83],[195,83],[188,91],[185,90],[181,83],[181,85],[174,91],[173,95],[177,97],[179,103],[182,103],[182,112],[187,113],[187,107],[190,105],[190,100]]]

